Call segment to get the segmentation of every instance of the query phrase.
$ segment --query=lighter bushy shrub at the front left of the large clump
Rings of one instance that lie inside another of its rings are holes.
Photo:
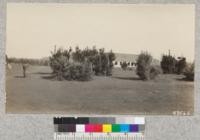
[[[92,75],[91,63],[70,62],[71,49],[54,50],[50,57],[50,66],[58,80],[90,80]]]

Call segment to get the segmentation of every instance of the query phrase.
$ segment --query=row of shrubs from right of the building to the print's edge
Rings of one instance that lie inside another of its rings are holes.
[[[163,55],[160,66],[153,66],[152,60],[152,56],[147,52],[142,52],[138,56],[136,73],[142,80],[154,79],[162,72],[164,74],[183,74],[186,80],[194,80],[194,63],[187,63],[185,57],[176,59],[170,54]]]

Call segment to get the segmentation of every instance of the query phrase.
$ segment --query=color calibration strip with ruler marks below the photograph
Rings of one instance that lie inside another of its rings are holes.
[[[55,140],[143,140],[144,130],[144,117],[54,118]]]

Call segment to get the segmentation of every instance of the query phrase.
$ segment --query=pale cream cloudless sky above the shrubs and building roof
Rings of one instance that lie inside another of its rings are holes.
[[[194,60],[192,4],[8,3],[8,57],[43,58],[57,48],[96,46],[117,53],[148,51]]]

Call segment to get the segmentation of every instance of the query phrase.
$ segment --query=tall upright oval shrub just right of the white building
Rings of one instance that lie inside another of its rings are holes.
[[[147,52],[142,52],[137,59],[136,73],[142,80],[150,79],[152,56]]]

